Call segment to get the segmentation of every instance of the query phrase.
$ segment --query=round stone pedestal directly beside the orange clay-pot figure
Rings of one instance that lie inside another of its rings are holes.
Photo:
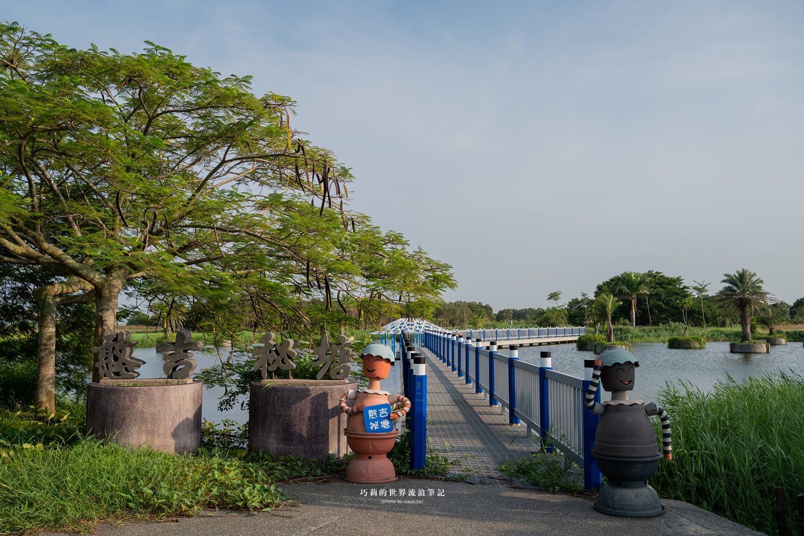
[[[357,382],[277,379],[252,382],[248,406],[248,450],[275,456],[322,460],[347,453],[347,415],[341,395]]]

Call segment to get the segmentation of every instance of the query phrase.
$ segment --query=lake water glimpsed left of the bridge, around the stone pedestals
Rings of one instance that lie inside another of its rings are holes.
[[[205,348],[204,350],[195,352],[194,358],[199,362],[199,366],[195,368],[195,371],[199,372],[205,368],[220,364],[220,359],[226,359],[230,350],[229,348],[221,348],[219,355],[215,354],[214,349],[211,348]],[[162,354],[157,354],[155,348],[134,348],[133,357],[146,362],[145,365],[137,369],[137,372],[140,373],[140,378],[165,377],[165,373],[162,370],[162,364],[164,363]],[[352,365],[352,370],[360,370],[358,363],[353,363]],[[388,374],[388,379],[384,379],[382,382],[385,391],[391,391],[392,393],[402,392],[402,387],[400,387],[402,383],[401,370],[402,363],[399,361],[396,362],[396,366],[391,367],[391,374]],[[238,423],[248,421],[248,407],[240,409],[240,402],[244,402],[245,397],[240,397],[238,403],[236,403],[231,410],[219,411],[218,403],[223,395],[223,387],[204,388],[203,403],[201,406],[203,419],[211,420],[215,423],[219,423],[222,419],[232,419]]]

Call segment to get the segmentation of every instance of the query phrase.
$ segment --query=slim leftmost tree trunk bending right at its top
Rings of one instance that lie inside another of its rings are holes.
[[[92,285],[75,276],[64,283],[51,283],[34,291],[39,304],[39,334],[36,348],[36,391],[34,406],[55,412],[55,313],[60,304],[89,303],[92,293],[59,298],[60,294],[91,291]]]

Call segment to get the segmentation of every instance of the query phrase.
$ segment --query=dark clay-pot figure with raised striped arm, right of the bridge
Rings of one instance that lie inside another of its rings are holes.
[[[656,434],[648,415],[658,415],[662,423],[662,451],[672,458],[670,417],[655,403],[628,399],[634,389],[639,362],[628,350],[606,350],[595,361],[592,383],[586,392],[586,405],[601,415],[592,454],[609,482],[600,490],[595,503],[598,512],[623,518],[653,518],[664,513],[656,491],[647,485],[662,458]],[[595,402],[598,382],[611,391],[611,400]]]

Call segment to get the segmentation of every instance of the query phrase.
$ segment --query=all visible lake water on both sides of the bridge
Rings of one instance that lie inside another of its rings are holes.
[[[524,346],[519,349],[519,359],[523,362],[539,364],[539,352],[552,353],[552,366],[554,370],[571,374],[579,378],[584,375],[584,359],[594,358],[592,352],[580,352],[574,344],[560,344],[550,346]],[[195,353],[199,362],[196,370],[214,366],[220,358],[228,356],[229,349],[222,348],[220,357],[212,351],[205,349]],[[507,354],[502,350],[501,354]],[[162,354],[157,354],[154,348],[134,349],[134,357],[146,362],[137,371],[140,378],[164,378],[162,372]],[[634,382],[634,391],[631,399],[654,400],[656,392],[664,387],[665,381],[678,383],[679,379],[687,380],[703,391],[708,391],[717,380],[726,378],[731,374],[736,380],[760,374],[776,374],[780,370],[804,375],[804,346],[800,342],[791,342],[786,346],[771,346],[770,354],[731,354],[728,351],[728,342],[708,342],[703,350],[671,350],[662,343],[634,344],[634,356],[640,362],[637,377]],[[359,370],[355,363],[352,370]],[[402,366],[397,362],[392,366],[388,379],[383,380],[383,389],[392,393],[402,392]],[[202,415],[204,419],[220,422],[221,419],[232,419],[238,423],[248,420],[248,409],[241,410],[240,403],[228,411],[219,411],[219,398],[224,395],[222,387],[212,387],[203,390]],[[603,399],[609,394],[602,391]],[[240,400],[242,402],[242,400]]]

